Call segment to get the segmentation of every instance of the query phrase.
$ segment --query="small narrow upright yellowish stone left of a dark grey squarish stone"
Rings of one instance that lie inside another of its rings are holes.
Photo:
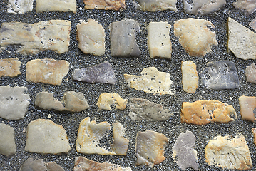
[[[193,61],[182,61],[181,72],[183,73],[183,90],[187,93],[195,93],[198,88],[198,71]]]

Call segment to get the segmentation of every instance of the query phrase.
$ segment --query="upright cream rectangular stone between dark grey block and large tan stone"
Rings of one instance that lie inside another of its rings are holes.
[[[170,24],[167,22],[150,22],[148,24],[148,51],[150,58],[171,58]]]

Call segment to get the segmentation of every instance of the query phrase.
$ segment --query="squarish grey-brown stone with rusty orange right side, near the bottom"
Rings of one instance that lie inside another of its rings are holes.
[[[135,155],[136,165],[148,165],[153,167],[165,160],[165,145],[168,138],[162,133],[153,130],[138,132],[136,137]]]

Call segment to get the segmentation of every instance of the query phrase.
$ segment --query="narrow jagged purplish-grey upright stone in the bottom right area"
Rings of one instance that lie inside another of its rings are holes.
[[[198,152],[195,147],[195,135],[191,131],[181,133],[175,145],[173,146],[173,159],[180,169],[185,170],[188,167],[198,170]]]

